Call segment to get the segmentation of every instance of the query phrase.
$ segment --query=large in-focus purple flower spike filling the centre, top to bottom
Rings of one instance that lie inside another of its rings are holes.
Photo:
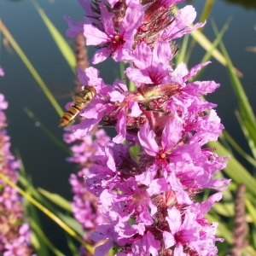
[[[68,36],[83,32],[86,44],[98,48],[93,64],[109,56],[129,63],[125,74],[137,87],[128,90],[120,80],[105,84],[96,68],[78,68],[79,80],[94,86],[96,96],[80,113],[85,119],[73,125],[73,136],[88,135],[100,122],[117,131],[112,144],[98,143],[101,150],[85,177],[86,189],[108,219],[90,235],[105,241],[96,247],[98,256],[111,247],[119,256],[217,255],[215,243],[222,241],[215,237],[218,224],[204,217],[222,194],[195,200],[202,189],[222,191],[230,183],[213,178],[226,161],[205,146],[224,127],[212,109],[216,105],[201,96],[219,84],[189,82],[208,62],[173,68],[172,40],[204,25],[189,26],[196,16],[192,6],[171,15],[181,1],[80,0],[84,20],[66,17]]]

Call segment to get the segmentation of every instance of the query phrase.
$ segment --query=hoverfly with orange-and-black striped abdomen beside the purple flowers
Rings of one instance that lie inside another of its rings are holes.
[[[73,119],[82,111],[86,106],[90,104],[92,99],[96,96],[96,90],[94,86],[86,86],[84,90],[81,90],[74,95],[73,103],[63,113],[59,127],[63,127],[72,122]]]

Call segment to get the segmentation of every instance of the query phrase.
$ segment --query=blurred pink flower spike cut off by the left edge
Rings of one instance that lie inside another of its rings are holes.
[[[3,109],[8,107],[0,94],[0,172],[13,183],[17,183],[20,163],[9,151],[9,136],[4,130],[6,116]],[[25,222],[24,208],[16,189],[0,179],[0,254],[3,256],[32,255],[28,223]]]

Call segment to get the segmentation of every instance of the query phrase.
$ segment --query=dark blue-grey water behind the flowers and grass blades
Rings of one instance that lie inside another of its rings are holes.
[[[198,14],[201,14],[203,0],[189,1],[189,3],[193,4]],[[67,22],[63,19],[64,15],[68,15],[76,21],[83,20],[84,17],[84,11],[76,0],[39,0],[38,4],[63,36],[67,30]],[[183,3],[177,5],[179,8],[182,6]],[[212,21],[220,30],[230,17],[232,20],[229,29],[224,34],[224,44],[234,65],[243,74],[241,83],[244,85],[248,100],[255,113],[256,53],[247,51],[248,46],[256,47],[255,1],[216,0],[204,29],[207,38],[211,41],[215,38]],[[3,20],[9,32],[20,44],[21,49],[40,76],[49,84],[49,87],[74,89],[74,73],[67,65],[30,1],[0,0],[0,19]],[[20,153],[26,173],[31,177],[35,187],[42,187],[71,200],[72,193],[68,177],[72,172],[76,172],[76,166],[66,162],[67,153],[58,148],[46,136],[40,129],[40,123],[35,123],[29,118],[24,108],[29,108],[40,119],[41,124],[46,125],[59,139],[63,135],[62,129],[58,128],[60,118],[15,50],[8,42],[3,41],[3,37],[1,37],[1,41],[0,65],[4,69],[5,76],[0,78],[0,93],[3,93],[9,102],[6,113],[12,150],[14,153]],[[73,38],[67,38],[67,42],[73,45]],[[177,41],[177,44],[180,43]],[[94,51],[93,48],[89,49],[89,58]],[[205,50],[196,46],[189,67],[198,64],[204,54]],[[119,76],[119,67],[112,60],[95,67],[100,70],[102,79],[108,84],[112,84],[113,80]],[[237,108],[236,97],[225,67],[212,59],[212,64],[207,67],[201,79],[214,79],[221,84],[221,87],[207,99],[218,104],[217,112],[226,130],[236,139],[237,143],[246,148],[247,144],[234,114]],[[65,104],[70,102],[71,98],[58,99],[58,101],[64,109]],[[42,222],[49,239],[62,251],[65,251],[66,245],[63,244],[65,236],[61,229],[44,215],[42,215]]]

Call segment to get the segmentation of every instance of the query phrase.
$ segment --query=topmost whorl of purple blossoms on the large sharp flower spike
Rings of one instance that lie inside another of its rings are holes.
[[[172,5],[177,1],[155,1],[143,4],[138,1],[108,1],[108,3],[88,3],[79,1],[85,11],[85,19],[78,23],[65,17],[69,29],[67,36],[75,37],[84,32],[87,45],[101,48],[96,51],[91,62],[104,61],[112,56],[114,61],[135,61],[132,55],[138,43],[146,42],[152,49],[158,41],[180,38],[204,24],[189,28],[195,20],[195,10],[188,6],[180,10],[174,19],[170,16]],[[173,51],[173,53],[175,50]]]

